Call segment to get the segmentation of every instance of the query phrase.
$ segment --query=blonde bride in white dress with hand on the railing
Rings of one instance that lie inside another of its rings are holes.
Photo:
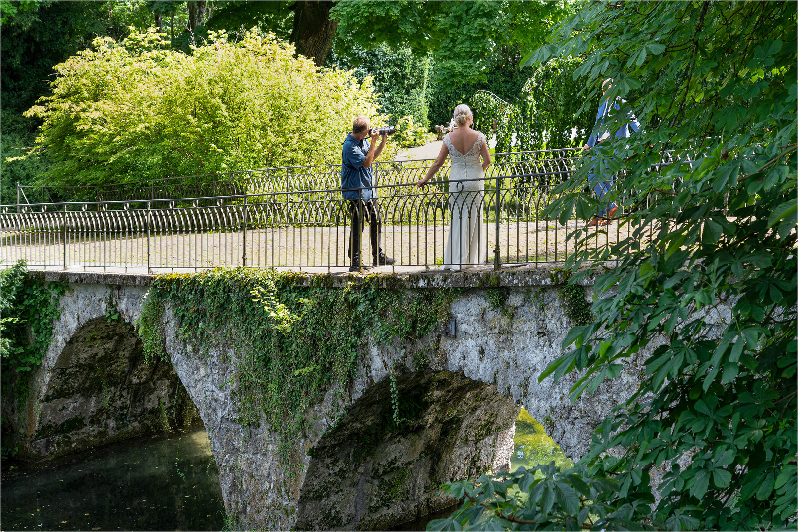
[[[482,223],[484,171],[491,164],[491,152],[485,136],[470,128],[474,115],[468,105],[454,110],[452,121],[457,128],[444,136],[444,144],[427,175],[416,183],[421,187],[433,178],[446,156],[452,161],[449,171],[449,226],[444,264],[441,270],[464,270],[480,265],[488,256],[485,229]],[[480,161],[480,156],[482,160]],[[472,180],[473,179],[473,180]]]

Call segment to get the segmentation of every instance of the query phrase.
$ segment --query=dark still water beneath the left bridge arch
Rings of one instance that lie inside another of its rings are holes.
[[[2,467],[2,530],[221,530],[203,427]]]

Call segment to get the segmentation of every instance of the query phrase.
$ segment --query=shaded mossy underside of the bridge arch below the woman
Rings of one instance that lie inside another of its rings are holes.
[[[508,469],[519,409],[459,372],[381,380],[308,450],[294,526],[383,530],[450,506],[441,484]]]

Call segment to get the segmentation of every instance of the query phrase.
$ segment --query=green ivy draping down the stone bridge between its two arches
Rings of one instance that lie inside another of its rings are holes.
[[[283,463],[295,463],[294,442],[306,428],[307,409],[331,387],[349,388],[367,337],[413,343],[448,321],[459,294],[378,289],[378,278],[343,288],[329,287],[329,276],[316,280],[315,287],[297,286],[296,274],[245,268],[157,276],[139,322],[144,352],[166,356],[165,305],[176,317],[179,339],[196,356],[231,350],[236,376],[226,385],[238,396],[237,420],[266,423],[282,437]],[[398,423],[405,415],[396,413]]]

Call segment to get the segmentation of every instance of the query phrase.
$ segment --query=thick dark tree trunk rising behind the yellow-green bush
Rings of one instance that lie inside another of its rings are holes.
[[[296,45],[297,53],[314,57],[316,66],[324,65],[338,26],[337,20],[330,20],[332,6],[334,2],[296,2],[294,6],[290,41]]]

